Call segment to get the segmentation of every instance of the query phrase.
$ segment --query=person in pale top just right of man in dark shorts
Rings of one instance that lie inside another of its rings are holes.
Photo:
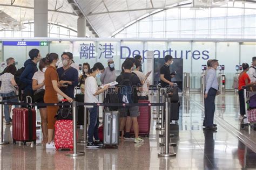
[[[148,94],[149,94],[149,83],[147,82],[147,77],[149,77],[149,75],[151,74],[151,72],[147,73],[146,75],[142,72],[140,72],[140,68],[142,67],[142,63],[140,60],[136,60],[135,61],[135,66],[136,69],[133,70],[132,72],[135,73],[138,77],[139,80],[142,82],[143,84],[143,90],[140,93],[139,99],[140,100],[148,100]]]

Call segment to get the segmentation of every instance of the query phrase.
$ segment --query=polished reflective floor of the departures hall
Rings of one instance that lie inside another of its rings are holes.
[[[217,98],[216,115],[238,128],[236,97],[232,94],[220,97]],[[153,101],[156,101],[155,97]],[[150,138],[145,138],[144,144],[121,140],[117,150],[90,150],[78,144],[78,151],[84,151],[85,156],[70,158],[65,156],[68,151],[45,150],[40,144],[41,131],[37,130],[38,141],[34,147],[18,144],[0,146],[1,169],[256,168],[256,153],[223,126],[218,124],[218,132],[203,130],[204,112],[200,107],[203,104],[201,95],[182,96],[180,101],[178,124],[171,124],[171,133],[175,135],[171,140],[177,142],[177,146],[170,149],[177,153],[176,157],[158,157],[157,153],[163,150],[163,147],[159,146],[159,141],[163,139],[158,137],[161,132],[155,130],[156,121],[153,117],[156,115],[152,114],[151,135]],[[11,141],[11,129],[12,126],[4,126],[5,140]],[[255,131],[252,130],[251,135],[255,135]]]

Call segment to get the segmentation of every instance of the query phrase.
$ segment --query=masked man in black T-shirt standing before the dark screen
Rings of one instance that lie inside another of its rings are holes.
[[[171,55],[166,55],[164,66],[160,68],[160,83],[161,87],[167,87],[167,86],[173,86],[174,83],[172,83],[172,76],[170,72],[170,65],[173,63],[173,59]]]

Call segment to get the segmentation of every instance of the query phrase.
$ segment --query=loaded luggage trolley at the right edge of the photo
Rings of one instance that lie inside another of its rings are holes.
[[[251,125],[256,124],[256,108],[251,109],[250,108],[250,98],[253,95],[256,95],[256,85],[250,85],[250,86],[245,86],[244,88],[244,98],[245,98],[245,117],[242,118],[241,121],[241,129],[245,129],[245,126],[248,126],[248,131],[249,133],[251,132]],[[253,118],[253,114],[251,112],[255,110],[255,116]],[[248,114],[248,112],[250,112]]]

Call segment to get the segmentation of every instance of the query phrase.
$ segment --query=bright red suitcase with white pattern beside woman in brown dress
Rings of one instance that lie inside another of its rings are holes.
[[[56,150],[60,148],[73,150],[73,121],[56,121],[54,144]]]

